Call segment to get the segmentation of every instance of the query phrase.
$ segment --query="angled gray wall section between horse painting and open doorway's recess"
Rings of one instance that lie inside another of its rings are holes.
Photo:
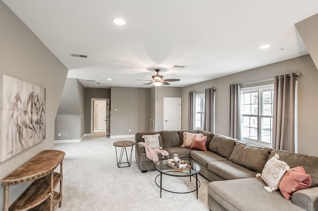
[[[55,140],[80,139],[83,135],[84,87],[77,79],[67,78],[55,118]]]

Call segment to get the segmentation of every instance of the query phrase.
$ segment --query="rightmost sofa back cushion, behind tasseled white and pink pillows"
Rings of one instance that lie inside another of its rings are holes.
[[[272,150],[269,158],[273,157],[275,154],[278,154],[279,159],[287,162],[291,168],[303,166],[306,173],[312,178],[312,187],[318,186],[318,157],[295,154],[281,150]]]

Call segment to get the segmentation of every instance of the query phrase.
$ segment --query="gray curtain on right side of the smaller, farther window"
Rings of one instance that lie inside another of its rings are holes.
[[[214,132],[214,93],[215,88],[205,89],[203,130]]]

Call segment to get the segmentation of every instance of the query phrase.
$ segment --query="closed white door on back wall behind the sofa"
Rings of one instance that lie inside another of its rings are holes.
[[[163,98],[163,130],[181,130],[181,98]]]

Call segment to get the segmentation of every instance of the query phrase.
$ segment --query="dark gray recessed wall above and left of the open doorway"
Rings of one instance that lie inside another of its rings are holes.
[[[99,89],[99,88],[85,88],[85,97],[84,97],[84,107],[85,107],[85,123],[84,123],[84,133],[90,134],[90,127],[93,121],[91,117],[91,99],[92,98],[101,98],[101,99],[110,99],[110,89]],[[111,100],[110,100],[111,104]]]

